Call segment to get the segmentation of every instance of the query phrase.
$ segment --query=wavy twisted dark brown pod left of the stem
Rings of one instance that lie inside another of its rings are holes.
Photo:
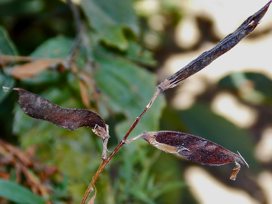
[[[9,89],[3,87],[4,89]],[[32,118],[53,123],[67,130],[80,127],[90,127],[102,139],[108,138],[108,125],[95,112],[80,108],[62,108],[49,100],[20,88],[10,88],[18,91],[18,103],[24,113]]]

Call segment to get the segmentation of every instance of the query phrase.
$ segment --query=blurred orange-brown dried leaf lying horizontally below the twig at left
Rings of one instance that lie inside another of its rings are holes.
[[[16,67],[11,74],[17,79],[25,79],[35,76],[46,70],[51,64],[59,62],[60,60],[37,60]]]

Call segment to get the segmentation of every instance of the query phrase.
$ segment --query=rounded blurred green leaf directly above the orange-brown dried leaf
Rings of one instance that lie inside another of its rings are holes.
[[[46,58],[66,57],[73,47],[73,42],[73,39],[69,37],[52,37],[38,46],[36,50],[31,53],[31,56]]]

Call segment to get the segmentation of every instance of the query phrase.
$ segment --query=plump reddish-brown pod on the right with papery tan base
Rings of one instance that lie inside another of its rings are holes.
[[[224,147],[204,138],[176,131],[144,132],[141,137],[152,146],[168,153],[177,153],[191,161],[208,164],[224,165],[235,162],[230,179],[235,180],[240,170],[239,163],[249,168],[243,157],[235,154]]]

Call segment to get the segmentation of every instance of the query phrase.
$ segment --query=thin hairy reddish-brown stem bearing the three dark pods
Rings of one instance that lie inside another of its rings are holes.
[[[96,182],[98,176],[100,175],[100,173],[103,171],[104,167],[108,164],[108,162],[112,159],[112,157],[115,155],[115,153],[125,144],[126,139],[128,138],[128,135],[131,133],[131,131],[135,128],[135,126],[137,125],[137,123],[141,120],[141,118],[143,117],[143,115],[147,112],[147,110],[151,107],[151,105],[153,104],[154,100],[156,99],[157,95],[161,92],[160,89],[157,89],[156,92],[154,93],[151,101],[149,102],[149,104],[146,106],[146,108],[144,109],[144,111],[142,112],[142,114],[136,118],[136,120],[134,121],[134,123],[131,125],[131,128],[129,128],[127,134],[124,136],[124,138],[121,140],[121,142],[117,145],[117,147],[115,147],[115,149],[112,151],[112,153],[105,159],[102,161],[102,163],[100,164],[100,167],[98,168],[98,170],[96,171],[96,174],[92,177],[92,181],[88,186],[88,189],[86,190],[83,199],[81,201],[81,204],[85,204],[91,191],[93,190],[92,187],[94,185],[94,183]]]

